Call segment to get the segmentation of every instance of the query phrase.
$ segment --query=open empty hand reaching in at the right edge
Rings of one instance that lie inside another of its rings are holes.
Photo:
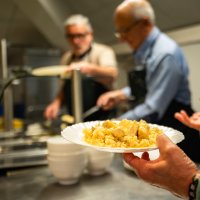
[[[180,112],[175,113],[174,117],[186,126],[198,131],[200,130],[200,112],[194,113],[190,117],[184,110],[181,110]]]

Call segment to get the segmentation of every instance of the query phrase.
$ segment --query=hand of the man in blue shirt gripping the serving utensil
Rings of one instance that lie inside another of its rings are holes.
[[[97,105],[103,110],[110,110],[126,98],[121,90],[110,91],[102,94],[97,99]]]

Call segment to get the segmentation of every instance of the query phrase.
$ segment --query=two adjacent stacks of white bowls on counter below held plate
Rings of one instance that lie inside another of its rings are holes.
[[[83,173],[98,176],[106,173],[114,154],[68,142],[61,136],[47,141],[48,164],[60,184],[77,183]]]

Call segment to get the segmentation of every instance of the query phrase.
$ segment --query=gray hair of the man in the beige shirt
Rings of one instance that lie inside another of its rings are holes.
[[[70,25],[85,25],[89,31],[93,31],[91,23],[89,19],[84,15],[72,15],[69,18],[67,18],[64,22],[64,27],[70,26]]]

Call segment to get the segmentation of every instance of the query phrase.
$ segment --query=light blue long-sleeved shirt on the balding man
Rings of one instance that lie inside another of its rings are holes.
[[[137,65],[146,68],[147,94],[142,104],[120,116],[120,119],[139,120],[152,113],[158,113],[160,119],[172,100],[190,105],[188,65],[172,39],[155,27],[133,57]],[[130,87],[122,90],[127,96],[131,93]]]

